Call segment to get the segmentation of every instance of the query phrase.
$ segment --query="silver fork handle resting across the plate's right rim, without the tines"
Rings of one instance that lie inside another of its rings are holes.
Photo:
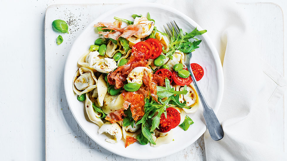
[[[190,64],[191,63],[189,62],[189,64],[187,65],[187,69],[191,75],[191,79],[193,81],[194,87],[197,91],[198,97],[200,98],[201,104],[203,106],[203,117],[206,122],[206,126],[208,128],[209,134],[213,140],[221,140],[224,135],[222,126],[219,123],[213,109],[211,109],[210,106],[208,106],[208,104],[206,103],[206,100],[204,99],[201,93],[201,90],[198,87],[197,81],[192,72]]]

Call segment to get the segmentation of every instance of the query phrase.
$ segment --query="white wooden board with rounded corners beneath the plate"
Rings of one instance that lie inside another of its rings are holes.
[[[77,124],[69,110],[64,93],[63,75],[66,57],[75,38],[91,20],[121,4],[53,5],[45,16],[45,84],[46,84],[46,160],[132,160],[105,150],[91,140]],[[261,41],[262,58],[284,74],[283,14],[278,6],[268,3],[238,4],[249,13],[253,30]],[[62,19],[69,24],[69,34],[56,45],[59,33],[52,21]],[[262,27],[264,26],[264,28]],[[261,28],[261,30],[258,30]],[[276,30],[274,29],[276,28]],[[271,41],[273,40],[273,41]],[[284,150],[284,102],[273,110],[274,146]],[[156,160],[205,160],[203,137],[185,150]]]

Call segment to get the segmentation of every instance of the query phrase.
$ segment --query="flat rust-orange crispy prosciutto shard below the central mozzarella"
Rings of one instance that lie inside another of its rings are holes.
[[[131,105],[131,114],[135,121],[141,119],[144,115],[144,96],[143,94],[138,94],[136,92],[127,92],[122,93],[124,96],[124,109],[128,109]]]

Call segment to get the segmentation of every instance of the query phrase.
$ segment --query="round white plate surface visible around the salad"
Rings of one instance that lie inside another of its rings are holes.
[[[123,5],[99,16],[86,27],[81,35],[79,35],[71,48],[69,56],[67,57],[64,73],[65,93],[69,107],[76,121],[85,133],[105,149],[118,155],[135,159],[165,157],[183,150],[194,143],[206,131],[202,107],[199,107],[196,113],[188,114],[195,123],[191,125],[187,131],[183,131],[179,127],[172,129],[174,141],[171,143],[163,144],[160,147],[151,147],[149,144],[140,145],[139,143],[134,143],[125,148],[124,139],[120,140],[119,143],[116,144],[106,142],[105,139],[107,136],[98,134],[99,126],[88,121],[89,118],[85,118],[86,112],[84,104],[77,100],[77,96],[74,94],[72,89],[72,80],[75,72],[79,68],[77,65],[79,57],[86,52],[86,50],[89,49],[89,46],[99,37],[99,34],[95,32],[94,24],[100,21],[114,22],[114,16],[133,20],[131,17],[132,14],[142,14],[146,16],[147,12],[149,12],[151,18],[155,20],[155,26],[160,31],[164,31],[163,24],[172,20],[175,20],[183,31],[190,32],[195,27],[197,27],[198,30],[202,30],[202,28],[191,18],[167,6],[158,4]],[[192,59],[193,62],[200,64],[204,69],[205,74],[198,84],[207,100],[207,103],[213,107],[215,112],[217,112],[223,95],[223,71],[216,48],[211,43],[207,34],[208,32],[198,37],[202,42],[199,45],[200,48],[193,52]]]

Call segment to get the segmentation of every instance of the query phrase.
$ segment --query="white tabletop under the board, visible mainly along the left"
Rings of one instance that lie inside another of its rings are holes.
[[[285,0],[270,1],[279,4],[283,13],[287,12]],[[132,1],[124,1],[129,2]],[[44,16],[51,4],[65,3],[64,0],[0,2],[0,49],[4,56],[0,60],[0,156],[3,160],[45,159]],[[102,1],[69,1],[69,4],[76,3]],[[106,3],[119,1],[107,0]],[[287,22],[286,16],[284,22]],[[284,46],[287,47],[287,41]],[[287,129],[287,123],[282,126]]]

